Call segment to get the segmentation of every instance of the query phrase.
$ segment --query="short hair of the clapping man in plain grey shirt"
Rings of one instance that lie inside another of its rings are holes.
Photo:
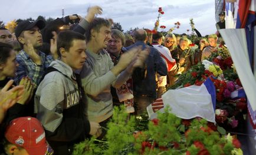
[[[97,32],[100,31],[101,27],[111,27],[111,24],[109,20],[104,19],[104,18],[94,18],[92,22],[90,22],[87,30],[86,30],[86,41],[91,40],[91,29],[95,29]]]

